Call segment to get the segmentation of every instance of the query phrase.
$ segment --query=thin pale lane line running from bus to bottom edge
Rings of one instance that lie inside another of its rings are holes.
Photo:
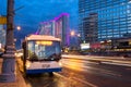
[[[67,80],[79,80],[79,82],[84,83],[84,84],[86,84],[86,85],[88,85],[88,86],[91,86],[91,87],[98,87],[98,86],[96,86],[96,85],[94,85],[94,84],[91,84],[91,83],[88,83],[88,82],[82,80],[82,79],[80,79],[80,78],[75,78],[75,77],[68,78],[68,77],[66,77],[66,76],[63,76],[63,75],[61,75],[61,74],[58,74],[58,73],[55,73],[55,74],[58,75],[58,76],[60,76],[61,78],[67,79]]]

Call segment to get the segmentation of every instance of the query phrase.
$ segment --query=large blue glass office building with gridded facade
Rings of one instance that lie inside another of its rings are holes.
[[[131,37],[131,0],[79,0],[79,20],[86,42]]]

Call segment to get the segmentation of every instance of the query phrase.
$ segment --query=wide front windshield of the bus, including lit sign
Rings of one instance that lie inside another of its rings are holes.
[[[28,41],[28,60],[58,60],[61,55],[60,41]]]

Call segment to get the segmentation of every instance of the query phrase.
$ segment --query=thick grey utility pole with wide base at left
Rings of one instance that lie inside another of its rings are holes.
[[[0,82],[11,83],[15,82],[15,46],[13,35],[13,16],[14,16],[14,0],[8,0],[7,12],[7,42],[5,53],[3,54],[2,74]]]

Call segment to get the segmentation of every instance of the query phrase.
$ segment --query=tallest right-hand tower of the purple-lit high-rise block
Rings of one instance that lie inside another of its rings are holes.
[[[62,47],[69,46],[69,14],[62,13],[56,20],[55,36],[61,38]]]

